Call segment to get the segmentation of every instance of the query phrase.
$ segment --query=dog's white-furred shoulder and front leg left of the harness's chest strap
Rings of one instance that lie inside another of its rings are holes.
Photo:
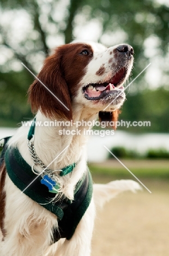
[[[1,256],[42,256],[49,247],[57,218],[5,180],[6,203]]]

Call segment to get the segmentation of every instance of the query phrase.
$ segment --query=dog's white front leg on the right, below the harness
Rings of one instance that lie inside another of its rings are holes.
[[[90,256],[94,218],[95,207],[92,199],[73,237],[64,241],[55,256]]]

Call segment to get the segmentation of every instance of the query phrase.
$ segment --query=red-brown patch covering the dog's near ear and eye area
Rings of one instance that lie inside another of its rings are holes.
[[[89,55],[81,54],[87,49]],[[93,57],[90,45],[82,43],[59,46],[55,53],[46,58],[38,78],[67,107],[67,110],[37,79],[28,90],[32,110],[50,117],[71,120],[71,100],[76,95],[77,84],[85,74],[85,67]]]

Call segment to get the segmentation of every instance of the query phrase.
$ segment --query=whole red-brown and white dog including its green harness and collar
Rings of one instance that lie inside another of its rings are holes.
[[[100,120],[117,121],[133,54],[128,44],[74,41],[45,59],[28,90],[36,119],[8,139],[2,156],[1,256],[89,256],[96,209],[122,191],[140,189],[131,180],[92,184],[83,133],[98,113]],[[45,125],[56,120],[61,125]],[[79,121],[81,133],[71,133]],[[69,135],[59,134],[63,130]],[[30,177],[37,177],[31,185]]]

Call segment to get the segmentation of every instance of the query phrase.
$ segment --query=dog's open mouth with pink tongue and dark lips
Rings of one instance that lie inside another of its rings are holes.
[[[126,69],[120,69],[110,80],[104,83],[88,84],[83,87],[82,92],[87,100],[107,100],[117,97],[124,88],[120,86],[126,75]],[[120,97],[120,96],[119,96]]]

